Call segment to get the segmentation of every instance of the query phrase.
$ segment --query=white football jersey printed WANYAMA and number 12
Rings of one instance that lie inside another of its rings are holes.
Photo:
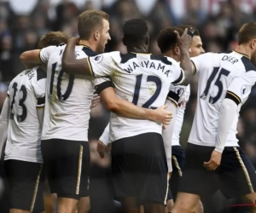
[[[182,83],[184,74],[172,58],[120,52],[88,58],[95,77],[110,76],[120,99],[145,108],[165,104],[171,83]],[[130,119],[111,113],[109,141],[147,132],[162,134],[161,124],[150,120]]]

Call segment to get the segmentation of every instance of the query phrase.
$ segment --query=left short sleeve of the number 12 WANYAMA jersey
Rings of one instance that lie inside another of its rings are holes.
[[[113,52],[87,58],[90,72],[94,77],[111,76],[114,70]]]

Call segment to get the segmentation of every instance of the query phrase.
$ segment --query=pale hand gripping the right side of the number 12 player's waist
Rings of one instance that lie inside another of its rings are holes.
[[[169,125],[172,120],[172,112],[166,110],[168,105],[158,107],[154,110],[154,121],[163,124],[163,129],[166,130],[166,125]]]

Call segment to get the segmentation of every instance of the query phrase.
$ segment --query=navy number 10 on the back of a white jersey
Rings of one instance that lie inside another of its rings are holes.
[[[56,66],[57,66],[57,62],[52,65],[52,69],[51,69],[51,77],[50,77],[50,84],[49,84],[49,100],[52,97],[52,90],[53,90],[53,83],[54,83],[54,79],[55,79]],[[67,90],[64,94],[61,94],[61,78],[62,78],[63,74],[64,74],[64,71],[61,70],[59,73],[58,79],[57,79],[57,96],[58,96],[59,100],[66,101],[73,89],[74,75],[69,75]]]

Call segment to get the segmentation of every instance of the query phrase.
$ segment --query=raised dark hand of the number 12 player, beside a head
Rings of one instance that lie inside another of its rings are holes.
[[[186,28],[183,32],[183,35],[180,36],[179,33],[177,31],[174,31],[174,33],[177,36],[177,44],[180,47],[180,49],[189,49],[194,37],[194,30],[189,27]]]

